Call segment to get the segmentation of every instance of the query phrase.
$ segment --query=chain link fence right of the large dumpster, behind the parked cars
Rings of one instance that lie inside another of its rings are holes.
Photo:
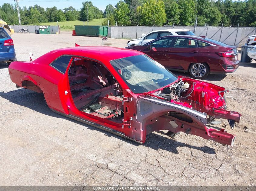
[[[256,34],[256,27],[211,27],[211,26],[162,26],[162,27],[144,27],[144,26],[111,26],[108,36],[118,39],[136,39],[141,35],[154,30],[163,29],[190,29],[196,36],[206,36],[220,42],[242,46],[246,43],[248,36]]]

